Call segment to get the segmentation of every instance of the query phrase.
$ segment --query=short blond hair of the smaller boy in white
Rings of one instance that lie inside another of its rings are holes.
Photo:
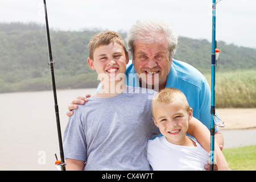
[[[157,93],[152,100],[152,115],[154,117],[154,107],[160,103],[169,104],[171,102],[180,101],[184,104],[185,109],[190,111],[190,107],[186,96],[179,89],[175,88],[164,88]]]

